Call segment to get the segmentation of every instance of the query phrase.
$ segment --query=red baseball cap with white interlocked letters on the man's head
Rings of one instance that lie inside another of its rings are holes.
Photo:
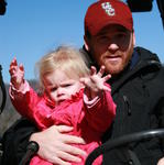
[[[120,0],[99,0],[92,3],[85,16],[85,33],[96,35],[109,24],[119,24],[127,30],[133,30],[133,19],[130,8]]]

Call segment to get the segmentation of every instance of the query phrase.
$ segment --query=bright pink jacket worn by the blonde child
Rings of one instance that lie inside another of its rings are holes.
[[[70,125],[74,128],[68,134],[81,136],[85,145],[76,145],[88,154],[101,144],[101,136],[110,127],[116,116],[116,105],[109,91],[103,91],[102,97],[88,100],[84,89],[65,100],[59,106],[50,100],[46,95],[39,96],[25,81],[23,91],[10,87],[10,97],[15,109],[28,119],[32,120],[40,130],[44,130],[53,124]],[[81,163],[72,165],[84,165],[86,157],[81,157]],[[100,165],[102,156],[99,156],[94,165]],[[30,165],[52,165],[37,155],[31,160]]]

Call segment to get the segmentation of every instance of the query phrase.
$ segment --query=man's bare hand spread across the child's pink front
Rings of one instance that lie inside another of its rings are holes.
[[[64,134],[73,128],[66,125],[53,125],[42,132],[33,133],[30,141],[40,145],[37,152],[42,158],[58,165],[70,165],[68,162],[80,162],[79,156],[86,157],[83,150],[72,144],[85,144],[81,138]]]

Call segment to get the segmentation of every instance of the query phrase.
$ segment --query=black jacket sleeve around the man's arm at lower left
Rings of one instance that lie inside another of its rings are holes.
[[[25,154],[29,139],[36,128],[26,119],[18,120],[2,136],[2,165],[18,165]]]

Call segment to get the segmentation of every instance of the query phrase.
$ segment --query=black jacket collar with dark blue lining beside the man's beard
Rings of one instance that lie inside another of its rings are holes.
[[[139,76],[143,69],[152,67],[160,69],[162,66],[158,57],[150,51],[135,47],[130,64],[127,68],[114,79],[111,79],[111,95],[113,95],[127,80],[132,77]]]

